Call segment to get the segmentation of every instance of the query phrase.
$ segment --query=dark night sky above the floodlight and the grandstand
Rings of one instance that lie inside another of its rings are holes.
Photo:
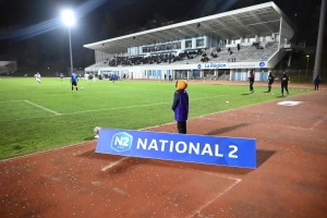
[[[70,65],[69,35],[60,13],[66,8],[76,15],[71,28],[74,66],[83,69],[95,61],[94,51],[83,48],[85,44],[264,2],[268,1],[0,0],[0,60],[17,60],[19,71],[65,71]],[[322,1],[274,2],[298,26],[296,41],[316,46]]]

